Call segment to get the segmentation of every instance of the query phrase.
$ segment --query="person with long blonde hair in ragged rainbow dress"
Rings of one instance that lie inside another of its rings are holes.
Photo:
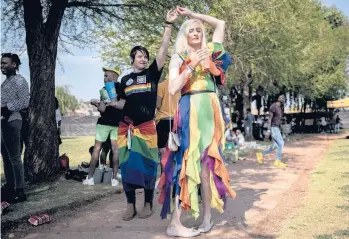
[[[168,143],[161,159],[164,172],[158,185],[159,203],[163,204],[161,217],[166,218],[175,197],[168,236],[194,237],[211,230],[211,207],[223,212],[227,195],[235,198],[222,159],[224,120],[216,94],[216,84],[224,84],[231,59],[222,45],[224,21],[182,7],[177,12],[191,18],[179,30],[169,66],[170,94],[182,95],[173,131],[179,148],[176,151]],[[214,29],[212,43],[206,42],[203,22]],[[196,229],[186,228],[180,222],[181,209],[198,218],[199,186],[203,222]]]

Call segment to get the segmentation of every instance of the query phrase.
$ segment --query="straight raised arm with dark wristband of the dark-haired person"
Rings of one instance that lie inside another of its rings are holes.
[[[171,40],[172,24],[178,18],[178,13],[176,10],[169,11],[166,16],[165,31],[162,37],[161,46],[158,54],[156,55],[156,63],[158,65],[158,70],[161,70],[165,65],[168,47]]]

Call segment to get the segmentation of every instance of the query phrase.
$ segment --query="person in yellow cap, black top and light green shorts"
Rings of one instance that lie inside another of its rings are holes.
[[[120,75],[119,71],[110,68],[103,68],[104,71],[104,82],[115,82],[115,88],[118,89],[119,83],[117,79]],[[107,91],[105,87],[101,89],[101,100],[92,100],[91,104],[96,106],[98,111],[101,113],[96,126],[96,141],[93,147],[90,171],[86,179],[83,181],[85,185],[94,185],[93,173],[96,169],[96,164],[102,149],[102,144],[107,141],[110,136],[111,148],[113,153],[113,178],[111,180],[112,186],[118,186],[119,181],[117,180],[117,172],[119,168],[119,157],[118,157],[118,127],[119,122],[122,119],[122,112],[112,106],[106,106],[108,99]]]

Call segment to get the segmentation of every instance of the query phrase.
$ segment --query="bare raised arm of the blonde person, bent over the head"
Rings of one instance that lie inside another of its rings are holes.
[[[206,22],[214,29],[212,42],[223,43],[225,30],[225,22],[223,20],[200,13],[195,13],[184,7],[177,7],[177,11],[183,16],[188,16]]]

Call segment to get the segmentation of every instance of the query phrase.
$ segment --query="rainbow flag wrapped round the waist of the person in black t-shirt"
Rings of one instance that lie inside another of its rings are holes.
[[[118,132],[119,162],[124,190],[154,189],[159,163],[157,134],[154,121],[133,126],[121,122]],[[128,149],[128,131],[131,149]]]

